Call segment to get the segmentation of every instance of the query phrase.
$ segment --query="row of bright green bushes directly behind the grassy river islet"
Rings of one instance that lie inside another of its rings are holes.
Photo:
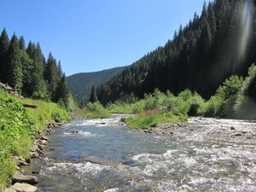
[[[204,100],[199,94],[184,90],[178,96],[174,96],[170,91],[166,94],[160,90],[154,90],[153,94],[145,95],[144,99],[131,104],[114,103],[108,104],[107,108],[111,113],[139,113],[148,110],[158,110],[160,112],[183,113],[187,115],[199,115]],[[202,112],[201,112],[202,113]]]

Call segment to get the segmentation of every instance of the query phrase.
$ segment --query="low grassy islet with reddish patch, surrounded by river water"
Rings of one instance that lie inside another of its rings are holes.
[[[177,121],[188,121],[188,116],[179,113],[173,114],[169,113],[154,113],[154,114],[139,114],[135,117],[130,117],[127,119],[123,119],[126,125],[135,129],[148,129],[154,128],[157,125],[168,123],[172,124]]]

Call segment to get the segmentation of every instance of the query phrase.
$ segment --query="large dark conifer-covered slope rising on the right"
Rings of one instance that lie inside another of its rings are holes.
[[[255,1],[215,0],[204,4],[180,26],[164,47],[144,55],[97,89],[106,104],[134,94],[143,97],[155,88],[177,94],[197,91],[204,98],[232,74],[245,76],[256,60]]]

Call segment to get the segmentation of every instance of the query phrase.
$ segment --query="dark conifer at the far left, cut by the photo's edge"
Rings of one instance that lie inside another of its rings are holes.
[[[4,28],[0,36],[0,80],[3,83],[8,82],[8,49],[9,37]]]

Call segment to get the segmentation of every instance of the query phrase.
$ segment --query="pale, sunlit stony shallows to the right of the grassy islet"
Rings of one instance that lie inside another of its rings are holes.
[[[193,117],[188,124],[160,125],[143,130],[146,133],[171,135],[201,142],[223,142],[256,145],[256,121]],[[200,125],[200,126],[199,126]]]

